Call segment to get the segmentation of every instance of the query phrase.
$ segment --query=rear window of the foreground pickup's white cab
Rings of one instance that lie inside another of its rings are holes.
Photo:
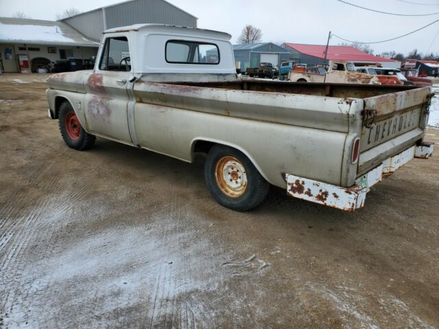
[[[166,42],[165,57],[168,63],[218,64],[219,50],[213,43],[185,40]]]

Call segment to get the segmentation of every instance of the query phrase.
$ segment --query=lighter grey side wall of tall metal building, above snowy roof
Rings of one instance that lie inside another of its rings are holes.
[[[95,41],[101,40],[101,34],[104,31],[104,16],[102,14],[102,9],[73,16],[69,19],[65,19],[64,23],[69,24],[78,32],[84,34],[84,36]]]

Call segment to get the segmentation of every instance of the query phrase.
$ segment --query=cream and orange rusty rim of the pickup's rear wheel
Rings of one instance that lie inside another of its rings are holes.
[[[247,173],[233,156],[224,156],[215,166],[215,180],[219,189],[228,197],[240,197],[247,189]]]

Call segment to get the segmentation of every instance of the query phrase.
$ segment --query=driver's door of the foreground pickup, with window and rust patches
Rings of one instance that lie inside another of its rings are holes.
[[[85,82],[84,105],[91,133],[132,144],[127,113],[127,84],[132,70],[127,36],[112,34],[105,38],[95,69]]]

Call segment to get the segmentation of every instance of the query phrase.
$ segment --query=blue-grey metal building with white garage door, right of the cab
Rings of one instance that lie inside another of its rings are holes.
[[[289,58],[288,51],[272,42],[233,45],[233,52],[236,68],[241,69],[242,72],[248,67],[259,67],[261,62],[270,62],[278,66],[283,60]]]

